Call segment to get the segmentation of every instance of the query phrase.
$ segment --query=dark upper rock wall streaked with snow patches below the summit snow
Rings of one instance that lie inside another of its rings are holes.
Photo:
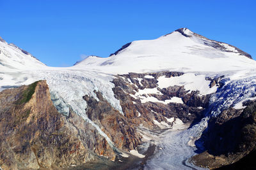
[[[133,122],[137,122],[137,124],[142,123],[146,127],[154,126],[152,120],[166,122],[166,118],[164,117],[180,118],[184,123],[191,123],[193,120],[202,118],[204,109],[208,106],[210,95],[199,96],[199,92],[197,91],[188,93],[188,90],[185,90],[184,86],[160,89],[157,85],[157,78],[159,78],[159,76],[170,78],[182,74],[183,73],[179,72],[163,71],[159,73],[129,73],[118,75],[117,78],[113,80],[115,84],[113,92],[115,93],[116,99],[120,100],[125,117],[132,119]],[[152,76],[152,78],[147,78],[147,75]],[[148,96],[156,97],[159,101],[179,97],[182,99],[183,103],[141,103],[140,99],[131,96],[136,94],[139,89],[154,88],[157,88],[161,94],[147,94]],[[138,113],[141,114],[140,117],[138,117]]]

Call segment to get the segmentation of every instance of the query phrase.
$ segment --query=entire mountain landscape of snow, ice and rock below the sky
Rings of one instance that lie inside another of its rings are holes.
[[[196,149],[196,165],[217,168],[255,154],[256,64],[232,45],[182,28],[72,67],[1,38],[0,55],[0,169],[193,169]]]

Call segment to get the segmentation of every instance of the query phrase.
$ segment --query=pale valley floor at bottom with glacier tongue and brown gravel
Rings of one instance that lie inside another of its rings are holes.
[[[148,136],[153,140],[138,146],[144,158],[138,158],[129,154],[116,162],[90,162],[84,167],[90,169],[118,169],[118,170],[149,170],[149,169],[204,169],[197,167],[190,161],[195,155],[195,146],[191,145],[195,140],[199,125],[204,126],[204,120],[200,124],[188,129],[189,124],[179,125],[178,127],[161,129],[159,131],[148,131]],[[143,129],[143,131],[147,131]],[[194,135],[194,136],[193,136]],[[192,142],[191,142],[192,141]],[[102,160],[100,160],[102,161]],[[83,167],[83,168],[84,168]],[[72,169],[80,169],[72,167]]]

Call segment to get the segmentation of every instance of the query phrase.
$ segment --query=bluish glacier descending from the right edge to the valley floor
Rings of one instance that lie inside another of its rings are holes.
[[[244,74],[246,78],[230,80],[232,76],[236,76],[234,74],[222,80],[225,85],[212,94],[205,118],[189,129],[170,130],[161,134],[162,139],[156,145],[163,149],[157,150],[156,155],[148,160],[145,169],[204,169],[189,162],[197,149],[189,145],[189,141],[193,139],[195,142],[195,139],[200,138],[211,117],[218,116],[221,111],[236,106],[237,103],[256,99],[256,76],[254,74],[252,73],[251,76],[247,74],[248,77]]]

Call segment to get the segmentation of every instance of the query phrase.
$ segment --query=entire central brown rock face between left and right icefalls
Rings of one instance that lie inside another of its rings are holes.
[[[159,73],[129,73],[118,75],[113,80],[115,87],[113,92],[116,99],[120,101],[124,115],[115,110],[100,92],[95,91],[99,101],[91,96],[84,96],[87,102],[86,114],[88,118],[99,125],[109,138],[122,150],[133,150],[141,143],[141,135],[136,129],[140,125],[151,130],[159,129],[154,124],[166,122],[166,118],[180,118],[184,123],[191,123],[203,116],[204,108],[207,108],[209,96],[200,96],[199,92],[188,93],[183,86],[168,87],[160,89],[157,85],[157,78],[165,76],[180,76],[183,73],[163,71]],[[147,76],[146,76],[147,75]],[[150,78],[147,78],[150,76]],[[159,90],[159,94],[147,94],[156,97],[159,101],[165,101],[172,97],[180,97],[183,103],[142,103],[140,99],[132,97],[138,90],[154,89]]]

